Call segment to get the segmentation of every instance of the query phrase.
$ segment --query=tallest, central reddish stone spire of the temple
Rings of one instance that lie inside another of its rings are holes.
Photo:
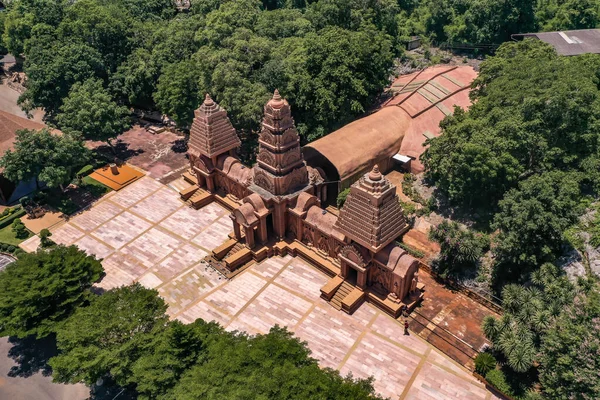
[[[308,185],[308,171],[290,105],[278,90],[265,105],[258,144],[256,186],[273,195],[286,195]]]

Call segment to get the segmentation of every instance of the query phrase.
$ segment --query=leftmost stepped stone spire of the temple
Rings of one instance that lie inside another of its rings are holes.
[[[213,158],[241,145],[227,112],[206,94],[204,103],[194,111],[188,152]]]

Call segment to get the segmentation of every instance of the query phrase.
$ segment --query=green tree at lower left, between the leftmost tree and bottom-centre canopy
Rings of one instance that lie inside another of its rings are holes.
[[[92,385],[110,376],[127,385],[140,352],[167,324],[166,309],[155,290],[139,283],[94,297],[57,331],[60,354],[48,362],[54,381]]]

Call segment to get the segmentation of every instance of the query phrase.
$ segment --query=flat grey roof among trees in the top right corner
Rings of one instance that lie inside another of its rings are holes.
[[[534,37],[552,45],[562,56],[600,54],[600,29],[581,29],[562,32],[519,33],[513,39]]]

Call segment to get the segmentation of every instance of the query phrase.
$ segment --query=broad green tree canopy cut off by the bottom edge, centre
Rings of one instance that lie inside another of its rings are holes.
[[[371,380],[322,370],[298,339],[279,327],[266,335],[222,334],[206,361],[192,367],[171,393],[178,400],[229,398],[376,399]]]

